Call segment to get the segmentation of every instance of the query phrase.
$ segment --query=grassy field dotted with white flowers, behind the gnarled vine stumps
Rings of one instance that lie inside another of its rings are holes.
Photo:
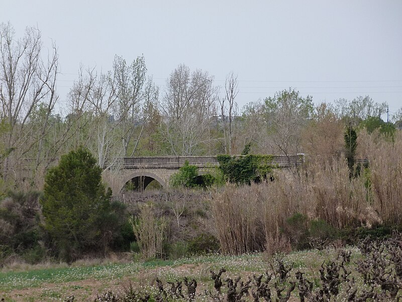
[[[352,251],[350,266],[361,257],[355,248]],[[283,256],[285,266],[294,263],[289,281],[295,280],[295,272],[305,272],[305,277],[314,282],[316,288],[319,284],[320,274],[318,269],[324,261],[333,261],[337,258],[334,249],[294,252]],[[68,296],[74,295],[74,301],[94,300],[99,294],[108,290],[119,293],[132,284],[136,289],[147,292],[156,292],[155,279],[159,278],[166,284],[194,278],[198,282],[196,289],[197,300],[211,300],[205,295],[205,290],[213,290],[213,280],[210,270],[218,271],[224,267],[227,272],[222,275],[235,279],[241,276],[247,280],[253,274],[262,274],[266,270],[272,271],[271,265],[276,266],[275,260],[269,260],[263,254],[250,254],[242,256],[206,255],[192,258],[184,258],[175,261],[148,261],[110,263],[102,265],[85,265],[84,262],[73,263],[69,267],[32,267],[29,270],[0,273],[0,297],[6,301],[63,301]],[[222,287],[223,292],[227,290]],[[341,284],[342,285],[342,284]],[[166,284],[165,288],[168,288]],[[183,285],[183,293],[185,287]],[[296,298],[294,290],[290,300]]]

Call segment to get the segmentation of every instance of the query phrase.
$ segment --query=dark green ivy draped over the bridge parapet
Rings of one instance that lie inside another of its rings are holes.
[[[217,156],[219,169],[226,179],[237,184],[250,184],[253,181],[266,179],[275,168],[272,165],[272,158],[272,155]]]

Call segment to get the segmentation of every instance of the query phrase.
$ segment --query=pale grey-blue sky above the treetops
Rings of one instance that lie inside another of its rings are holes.
[[[400,0],[0,0],[1,22],[56,44],[61,101],[80,64],[105,72],[115,55],[143,54],[161,95],[184,63],[216,86],[237,74],[240,108],[289,87],[315,103],[368,95],[390,115],[402,107]]]

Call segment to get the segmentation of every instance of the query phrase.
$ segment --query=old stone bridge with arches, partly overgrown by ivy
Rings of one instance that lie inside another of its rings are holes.
[[[239,157],[239,156],[234,156]],[[212,168],[219,167],[214,156],[163,156],[163,157],[133,157],[124,158],[122,169],[113,177],[110,184],[115,194],[131,182],[133,189],[143,190],[156,180],[160,186],[168,187],[169,178],[183,167],[185,161],[198,167],[199,175],[208,174]],[[304,154],[294,156],[274,155],[272,164],[281,168],[291,168],[304,162]]]

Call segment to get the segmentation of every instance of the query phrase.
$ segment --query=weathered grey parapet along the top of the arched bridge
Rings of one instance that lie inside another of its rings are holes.
[[[233,157],[240,157],[234,155]],[[141,169],[141,168],[164,168],[179,169],[183,167],[185,161],[190,165],[198,168],[218,167],[219,162],[215,156],[162,156],[162,157],[132,157],[124,158],[124,169]],[[292,155],[286,157],[284,155],[274,155],[272,164],[278,167],[290,167],[300,165],[304,162],[304,155]]]

